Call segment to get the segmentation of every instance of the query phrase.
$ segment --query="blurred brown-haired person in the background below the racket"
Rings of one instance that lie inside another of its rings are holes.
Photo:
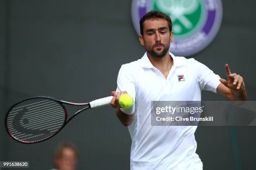
[[[71,143],[61,143],[54,150],[54,170],[75,170],[77,149]]]

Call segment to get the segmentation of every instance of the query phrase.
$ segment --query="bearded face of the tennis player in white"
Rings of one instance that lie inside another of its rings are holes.
[[[162,58],[169,51],[173,41],[173,32],[170,33],[168,23],[162,18],[145,20],[143,37],[139,35],[141,45],[153,57]]]

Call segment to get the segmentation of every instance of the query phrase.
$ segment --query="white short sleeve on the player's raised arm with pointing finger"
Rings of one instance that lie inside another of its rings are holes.
[[[207,66],[195,60],[197,70],[197,80],[201,90],[217,92],[217,87],[220,84],[220,76],[216,75]]]

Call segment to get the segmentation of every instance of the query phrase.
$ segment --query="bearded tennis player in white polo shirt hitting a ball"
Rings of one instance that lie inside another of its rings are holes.
[[[228,80],[220,79],[195,59],[176,57],[169,52],[173,42],[172,21],[158,11],[140,20],[139,40],[146,53],[140,60],[122,65],[111,105],[131,134],[131,170],[202,170],[195,153],[196,126],[151,126],[151,101],[201,100],[201,91],[218,92],[229,100],[246,100],[243,77],[225,69]],[[178,81],[184,75],[185,81]],[[118,99],[128,93],[130,108],[121,108]],[[181,95],[183,94],[183,95]]]

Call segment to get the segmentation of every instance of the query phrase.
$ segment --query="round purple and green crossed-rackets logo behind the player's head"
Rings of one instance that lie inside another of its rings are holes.
[[[133,0],[132,19],[138,34],[140,19],[151,10],[171,17],[174,42],[169,50],[181,56],[193,55],[207,47],[222,20],[221,0]]]

